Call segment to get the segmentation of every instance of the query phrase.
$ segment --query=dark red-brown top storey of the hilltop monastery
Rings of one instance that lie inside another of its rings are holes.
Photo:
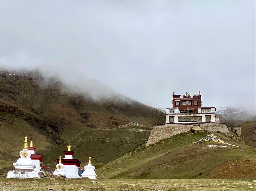
[[[181,113],[183,110],[184,113],[187,113],[188,110],[189,113],[197,113],[197,108],[202,106],[200,92],[198,94],[194,94],[193,97],[186,92],[182,98],[180,95],[175,95],[173,92],[172,98],[172,107],[179,108]]]

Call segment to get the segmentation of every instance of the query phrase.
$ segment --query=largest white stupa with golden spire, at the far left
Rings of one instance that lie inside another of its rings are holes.
[[[7,173],[7,178],[40,178],[35,171],[36,165],[33,164],[30,156],[32,152],[28,150],[28,137],[25,137],[23,149],[20,151],[20,158],[13,163],[14,170]]]

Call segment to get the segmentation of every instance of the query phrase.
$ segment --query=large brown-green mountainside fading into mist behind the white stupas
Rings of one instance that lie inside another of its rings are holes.
[[[44,164],[55,166],[68,143],[74,157],[106,164],[148,139],[156,109],[91,80],[88,91],[71,91],[57,79],[38,73],[0,72],[0,175],[12,168],[24,137],[34,142]],[[92,92],[102,96],[92,97]],[[111,93],[111,94],[109,94]],[[111,95],[109,97],[109,95]],[[164,113],[158,111],[163,123]],[[142,126],[116,128],[136,121]]]

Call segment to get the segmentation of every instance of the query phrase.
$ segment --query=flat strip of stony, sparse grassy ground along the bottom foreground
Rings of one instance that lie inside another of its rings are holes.
[[[247,191],[255,188],[255,180],[0,179],[0,191]]]

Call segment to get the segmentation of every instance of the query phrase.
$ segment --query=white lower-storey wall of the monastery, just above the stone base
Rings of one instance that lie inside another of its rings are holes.
[[[210,122],[215,122],[215,113],[166,114],[165,124],[170,123],[169,117],[174,117],[173,123],[205,123],[206,116],[211,116]],[[202,121],[178,121],[178,117],[202,117]],[[208,121],[207,121],[208,122]]]

